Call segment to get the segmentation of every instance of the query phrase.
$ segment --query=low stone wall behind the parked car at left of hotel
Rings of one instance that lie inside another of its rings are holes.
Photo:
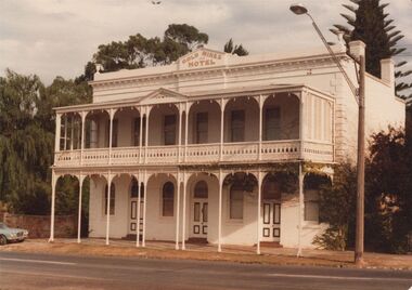
[[[50,237],[50,215],[26,215],[3,213],[3,222],[9,227],[27,229],[29,238]],[[54,237],[73,238],[77,235],[77,216],[55,215]]]

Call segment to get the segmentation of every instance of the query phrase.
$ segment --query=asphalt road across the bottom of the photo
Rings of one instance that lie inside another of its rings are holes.
[[[0,252],[0,289],[402,289],[412,272]]]

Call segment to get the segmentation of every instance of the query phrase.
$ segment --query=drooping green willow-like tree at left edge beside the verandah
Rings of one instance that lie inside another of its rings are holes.
[[[50,212],[55,130],[52,108],[90,100],[91,91],[85,82],[57,77],[44,87],[37,76],[11,70],[0,78],[0,201],[10,211]],[[65,205],[57,210],[76,212],[73,200],[77,195],[68,190],[59,201]]]

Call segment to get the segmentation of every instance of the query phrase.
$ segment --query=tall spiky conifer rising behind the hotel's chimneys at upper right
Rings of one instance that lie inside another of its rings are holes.
[[[351,26],[334,25],[332,32],[344,31],[345,40],[362,40],[366,44],[366,71],[375,77],[381,77],[381,60],[401,56],[405,48],[399,48],[398,42],[403,38],[400,30],[392,25],[394,19],[387,19],[389,14],[385,8],[389,4],[381,4],[379,0],[350,0],[356,5],[344,4],[343,6],[355,14],[340,14]],[[402,71],[401,67],[407,64],[401,61],[396,64],[397,78],[396,94],[403,100],[412,100],[412,82],[407,80],[412,70]]]

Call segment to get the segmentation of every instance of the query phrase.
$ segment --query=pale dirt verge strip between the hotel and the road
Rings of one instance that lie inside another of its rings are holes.
[[[102,242],[101,242],[102,243]],[[54,253],[69,255],[96,255],[96,256],[136,256],[151,259],[180,259],[203,261],[227,261],[237,263],[271,264],[271,265],[306,265],[306,266],[332,266],[355,267],[353,252],[334,252],[321,250],[305,250],[304,256],[296,258],[296,249],[263,249],[262,254],[254,253],[252,247],[228,247],[227,251],[218,253],[213,247],[197,247],[185,251],[172,249],[171,243],[152,243],[146,248],[136,248],[133,243],[99,245],[93,242],[67,242],[47,240],[27,240],[21,243],[12,243],[0,247],[0,251],[18,251],[30,253]],[[366,267],[412,269],[412,255],[392,255],[379,253],[365,253]]]

